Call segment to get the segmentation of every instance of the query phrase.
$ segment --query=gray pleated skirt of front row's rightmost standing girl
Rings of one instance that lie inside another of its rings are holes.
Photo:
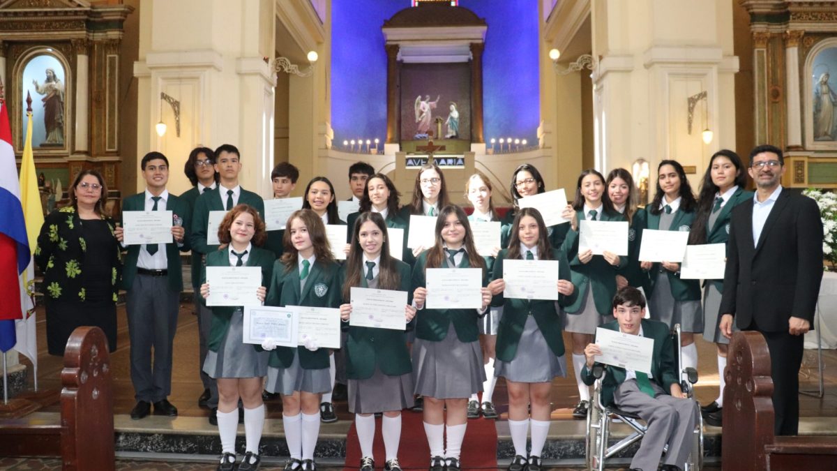
[[[494,375],[519,383],[547,383],[556,376],[567,375],[567,362],[549,348],[535,318],[526,316],[515,358],[509,362],[495,360]]]

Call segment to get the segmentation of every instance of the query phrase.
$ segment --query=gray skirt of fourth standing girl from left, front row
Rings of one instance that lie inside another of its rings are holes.
[[[436,399],[465,399],[482,392],[485,367],[480,342],[460,342],[454,323],[441,342],[413,342],[415,393]]]

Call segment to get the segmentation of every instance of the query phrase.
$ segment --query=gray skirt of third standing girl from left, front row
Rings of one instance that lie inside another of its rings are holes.
[[[384,375],[377,366],[366,380],[349,380],[349,411],[356,414],[400,411],[414,405],[413,373]]]

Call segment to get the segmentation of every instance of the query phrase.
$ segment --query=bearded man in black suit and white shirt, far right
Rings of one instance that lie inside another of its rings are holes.
[[[799,428],[799,366],[803,335],[814,322],[823,277],[823,224],[813,199],[791,194],[780,181],[782,151],[758,146],[749,173],[757,191],[732,210],[720,329],[764,335],[770,350],[776,435]]]

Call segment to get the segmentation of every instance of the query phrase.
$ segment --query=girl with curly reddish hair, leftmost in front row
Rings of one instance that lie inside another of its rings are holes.
[[[264,303],[276,257],[259,248],[264,244],[264,221],[259,212],[247,204],[239,204],[224,216],[218,225],[218,251],[207,256],[207,267],[258,267],[261,286],[256,297]],[[208,299],[212,286],[203,270],[201,298]],[[236,469],[235,433],[239,426],[239,399],[244,405],[246,453],[237,469],[259,468],[259,441],[264,426],[262,380],[267,374],[268,352],[260,345],[244,344],[244,313],[241,306],[215,306],[212,329],[208,338],[203,370],[218,382],[218,435],[223,456],[218,470]]]

